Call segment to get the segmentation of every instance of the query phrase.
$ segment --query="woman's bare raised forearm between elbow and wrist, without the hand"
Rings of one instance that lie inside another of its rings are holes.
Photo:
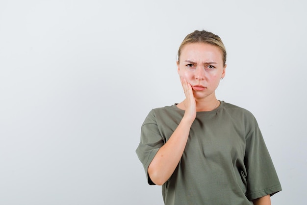
[[[182,118],[169,140],[159,149],[148,167],[153,183],[162,185],[176,169],[183,154],[192,122]]]

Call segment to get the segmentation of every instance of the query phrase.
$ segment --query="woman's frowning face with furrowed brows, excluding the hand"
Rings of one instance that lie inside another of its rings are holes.
[[[177,62],[178,74],[191,84],[195,99],[215,97],[221,77],[225,76],[222,51],[205,43],[186,44]]]

